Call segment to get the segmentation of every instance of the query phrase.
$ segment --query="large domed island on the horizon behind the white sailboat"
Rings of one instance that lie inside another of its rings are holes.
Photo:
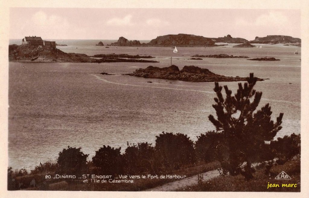
[[[189,34],[158,36],[156,39],[152,39],[147,44],[152,46],[177,46],[177,47],[219,46],[216,45],[212,39],[205,38],[203,36],[196,36]]]

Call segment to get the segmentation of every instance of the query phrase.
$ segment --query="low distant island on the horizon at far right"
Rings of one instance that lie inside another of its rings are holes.
[[[266,37],[256,36],[254,40],[250,41],[250,43],[267,43],[267,44],[298,43],[298,45],[300,45],[301,42],[302,42],[301,39],[283,35],[267,35]]]

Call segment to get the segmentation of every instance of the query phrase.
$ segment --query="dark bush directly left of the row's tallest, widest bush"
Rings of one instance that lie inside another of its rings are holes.
[[[125,162],[125,172],[130,175],[150,173],[157,171],[157,160],[155,159],[155,148],[148,142],[133,144],[125,149],[123,159]]]

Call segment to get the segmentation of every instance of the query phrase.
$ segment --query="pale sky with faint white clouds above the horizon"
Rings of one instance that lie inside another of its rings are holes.
[[[254,40],[301,38],[300,10],[175,8],[10,8],[9,38],[151,40],[167,34]]]

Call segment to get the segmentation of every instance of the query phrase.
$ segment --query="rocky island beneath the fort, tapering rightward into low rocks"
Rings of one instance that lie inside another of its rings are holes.
[[[96,55],[95,55],[96,56]],[[95,57],[93,56],[93,57]],[[31,44],[9,45],[9,61],[33,62],[73,62],[73,63],[110,63],[110,62],[143,62],[158,63],[154,60],[143,60],[138,55],[123,55],[131,59],[118,58],[114,55],[99,55],[102,58],[92,58],[86,54],[65,53],[56,47],[35,46]],[[134,59],[133,57],[138,57]]]

